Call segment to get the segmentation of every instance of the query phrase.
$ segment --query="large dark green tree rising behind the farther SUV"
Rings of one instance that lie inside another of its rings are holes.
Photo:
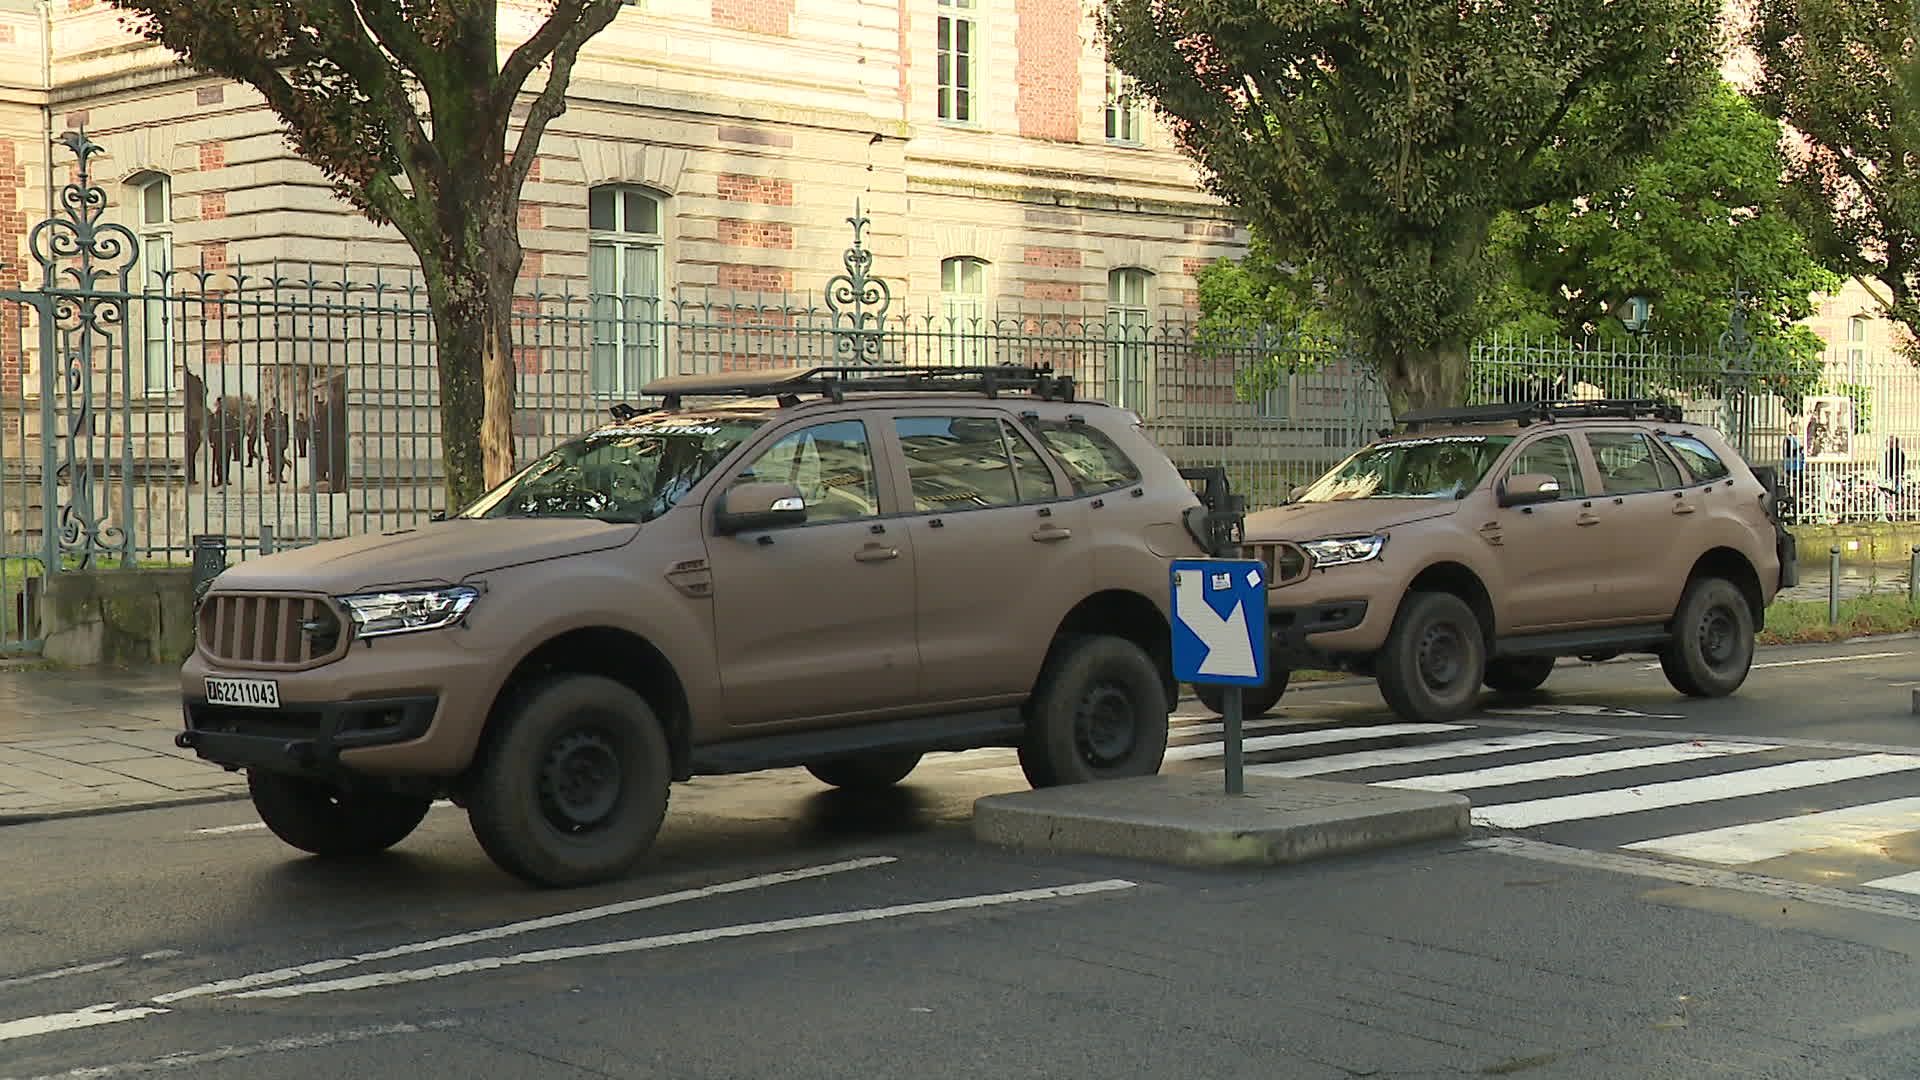
[[[1498,217],[1630,169],[1711,86],[1716,19],[1716,0],[1106,0],[1100,31],[1405,411],[1465,396]]]

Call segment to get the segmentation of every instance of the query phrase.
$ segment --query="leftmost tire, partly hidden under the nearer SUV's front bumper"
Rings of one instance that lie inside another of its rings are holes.
[[[386,851],[411,836],[432,805],[415,796],[344,792],[323,780],[259,769],[248,771],[246,788],[275,836],[323,857]]]

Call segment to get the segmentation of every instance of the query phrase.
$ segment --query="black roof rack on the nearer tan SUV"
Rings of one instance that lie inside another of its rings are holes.
[[[682,398],[768,398],[783,404],[801,394],[824,394],[845,402],[849,392],[933,392],[985,394],[1029,392],[1050,402],[1073,400],[1073,377],[1054,375],[1052,365],[995,363],[975,367],[952,365],[828,365],[776,367],[770,371],[722,371],[712,375],[666,375],[639,388],[641,396],[660,398],[662,409],[678,409]],[[632,405],[620,405],[632,407]],[[637,409],[639,411],[647,409]]]

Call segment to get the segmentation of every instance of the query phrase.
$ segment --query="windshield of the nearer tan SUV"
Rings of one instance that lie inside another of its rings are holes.
[[[653,521],[762,421],[653,419],[557,446],[461,517]]]

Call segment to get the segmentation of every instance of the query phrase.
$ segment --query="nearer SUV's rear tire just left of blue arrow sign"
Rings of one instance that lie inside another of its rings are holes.
[[[1060,642],[1027,700],[1020,769],[1035,788],[1152,776],[1167,755],[1165,682],[1112,636]]]

